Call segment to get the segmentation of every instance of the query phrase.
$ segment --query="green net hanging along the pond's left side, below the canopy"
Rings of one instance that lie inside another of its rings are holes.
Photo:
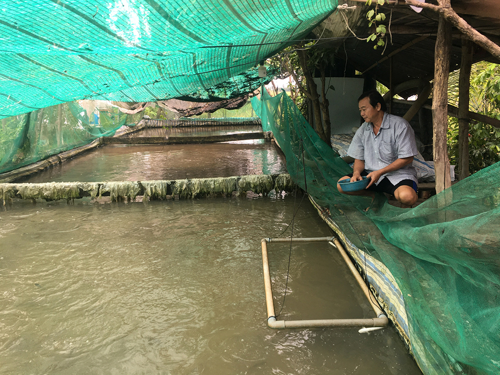
[[[0,172],[111,136],[128,116],[95,101],[68,102],[0,120]]]

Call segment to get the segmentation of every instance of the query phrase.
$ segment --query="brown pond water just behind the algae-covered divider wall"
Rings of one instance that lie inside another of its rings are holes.
[[[206,144],[104,145],[22,182],[100,182],[286,173],[269,140]]]

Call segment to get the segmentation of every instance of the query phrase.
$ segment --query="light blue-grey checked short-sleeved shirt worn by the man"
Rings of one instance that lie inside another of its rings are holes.
[[[384,113],[378,134],[373,133],[371,122],[364,122],[354,134],[347,154],[355,159],[364,160],[364,169],[368,173],[382,169],[396,159],[418,154],[415,133],[404,118]],[[378,182],[384,176],[393,185],[403,179],[418,182],[416,169],[411,163],[400,169],[382,174]]]

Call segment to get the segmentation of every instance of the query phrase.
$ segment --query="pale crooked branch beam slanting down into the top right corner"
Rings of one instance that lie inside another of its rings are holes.
[[[439,5],[428,4],[417,0],[405,0],[405,2],[407,5],[413,5],[419,8],[438,12],[442,17],[451,22],[458,30],[467,35],[474,43],[480,45],[500,60],[500,46],[493,43],[486,36],[470,26],[462,17],[456,14],[451,7],[449,0],[438,1]]]

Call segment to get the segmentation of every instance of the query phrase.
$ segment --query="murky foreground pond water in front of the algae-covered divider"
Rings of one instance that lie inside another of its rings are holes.
[[[292,196],[0,210],[1,374],[416,374],[392,327],[267,327],[260,238]],[[329,230],[305,199],[294,236]],[[289,235],[290,228],[285,233]],[[276,312],[289,245],[269,244]],[[280,317],[372,317],[336,250],[298,244]]]

